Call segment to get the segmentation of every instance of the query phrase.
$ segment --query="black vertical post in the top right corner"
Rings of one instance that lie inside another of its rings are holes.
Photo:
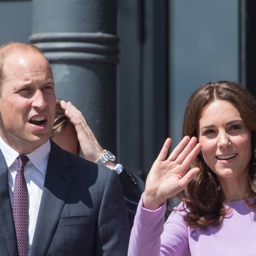
[[[240,82],[256,97],[256,1],[240,0]]]

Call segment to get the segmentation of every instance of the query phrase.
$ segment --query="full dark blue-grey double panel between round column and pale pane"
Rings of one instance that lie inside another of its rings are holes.
[[[167,133],[166,5],[120,1],[120,161],[145,176]]]

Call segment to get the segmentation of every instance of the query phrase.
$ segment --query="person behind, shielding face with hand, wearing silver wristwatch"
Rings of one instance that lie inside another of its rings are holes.
[[[129,224],[132,228],[145,183],[138,176],[124,169],[122,164],[117,163],[116,157],[111,152],[103,150],[83,113],[71,102],[56,100],[56,115],[51,138],[63,149],[91,162],[98,162],[119,174]]]

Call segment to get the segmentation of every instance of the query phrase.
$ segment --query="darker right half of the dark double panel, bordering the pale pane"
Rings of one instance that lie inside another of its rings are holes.
[[[145,176],[167,137],[167,3],[153,0],[145,4],[142,73]]]

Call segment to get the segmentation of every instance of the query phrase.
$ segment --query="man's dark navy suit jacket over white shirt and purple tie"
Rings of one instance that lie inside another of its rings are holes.
[[[31,256],[126,256],[129,224],[117,172],[62,150],[51,141]],[[0,152],[0,255],[18,255]]]

